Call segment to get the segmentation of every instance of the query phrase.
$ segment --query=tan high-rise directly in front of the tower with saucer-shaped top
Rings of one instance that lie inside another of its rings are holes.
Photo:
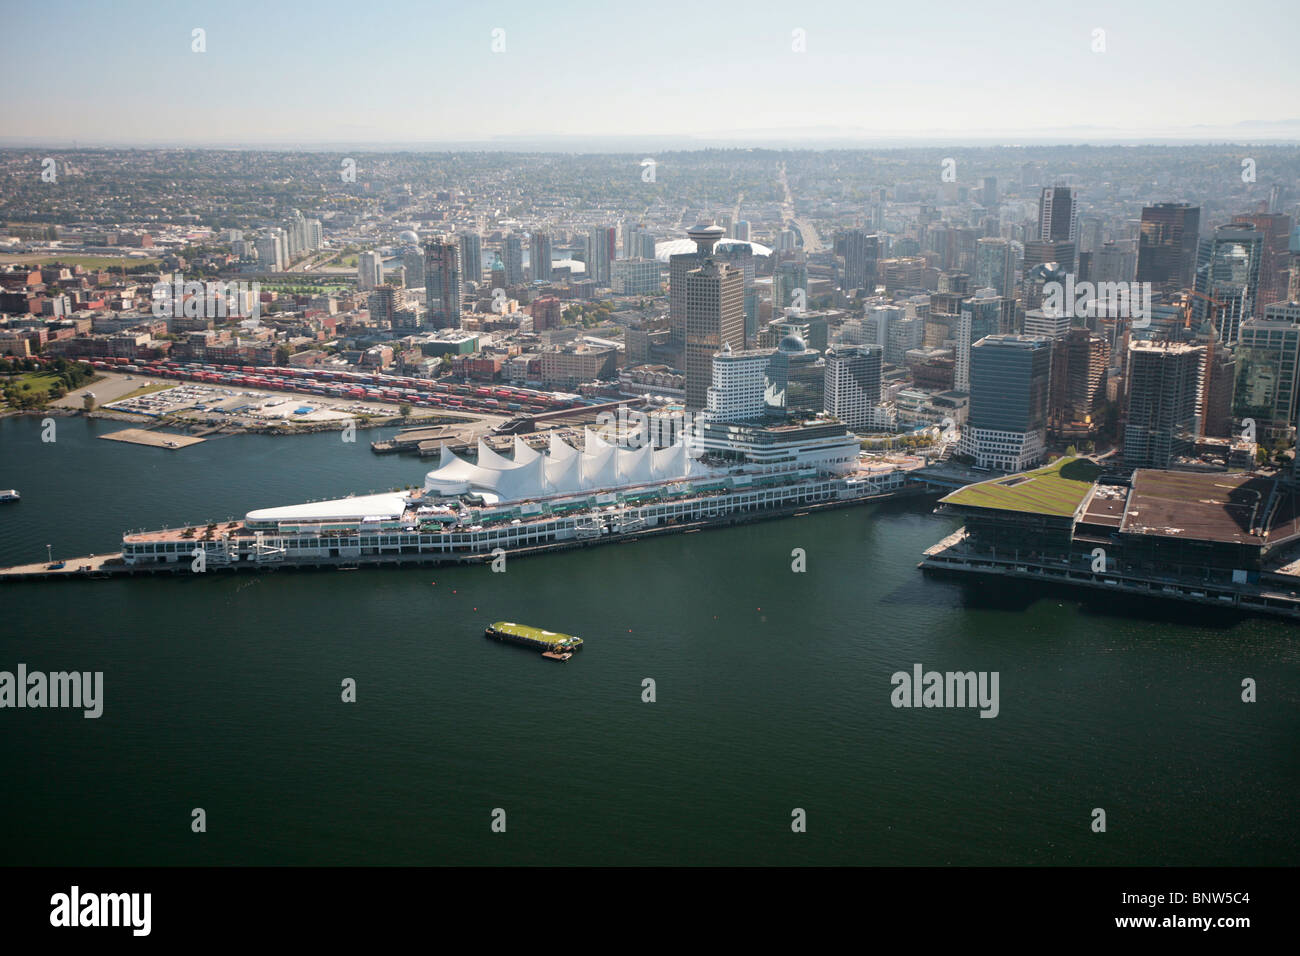
[[[686,408],[701,411],[708,401],[714,355],[724,345],[745,346],[745,277],[706,258],[702,265],[686,273],[684,286]]]

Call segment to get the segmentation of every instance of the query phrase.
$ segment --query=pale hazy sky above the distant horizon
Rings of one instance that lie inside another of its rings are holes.
[[[31,0],[5,13],[0,135],[1296,138],[1295,1]]]

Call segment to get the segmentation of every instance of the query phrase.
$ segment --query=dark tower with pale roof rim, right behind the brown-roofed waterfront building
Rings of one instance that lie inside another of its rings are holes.
[[[1199,431],[1201,346],[1132,342],[1124,402],[1124,464],[1167,468],[1190,457]]]

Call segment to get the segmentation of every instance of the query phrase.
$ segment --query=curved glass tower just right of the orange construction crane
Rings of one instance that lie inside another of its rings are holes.
[[[1225,345],[1254,313],[1262,246],[1260,230],[1245,224],[1222,225],[1197,246],[1192,319],[1199,325],[1209,317]]]

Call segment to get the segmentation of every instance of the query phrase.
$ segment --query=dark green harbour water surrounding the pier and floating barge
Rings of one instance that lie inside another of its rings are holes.
[[[425,471],[377,433],[94,440],[117,428],[0,421],[0,563]],[[506,574],[0,585],[0,670],[101,670],[105,697],[0,710],[0,864],[1300,862],[1292,626],[924,578],[953,527],[914,501]],[[546,662],[498,619],[586,648]],[[916,662],[998,671],[1001,714],[892,708]]]

